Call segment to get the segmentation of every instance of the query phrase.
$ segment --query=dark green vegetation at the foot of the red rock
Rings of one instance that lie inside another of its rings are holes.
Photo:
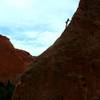
[[[0,100],[11,100],[14,88],[15,85],[10,80],[8,80],[6,85],[0,82]]]

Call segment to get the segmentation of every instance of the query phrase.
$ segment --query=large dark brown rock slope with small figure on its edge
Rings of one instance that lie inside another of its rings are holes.
[[[100,0],[80,0],[62,36],[23,74],[13,100],[100,100]]]

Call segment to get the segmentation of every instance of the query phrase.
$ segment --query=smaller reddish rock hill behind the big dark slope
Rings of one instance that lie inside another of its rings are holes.
[[[30,54],[15,49],[7,37],[0,35],[0,81],[15,80],[32,61]]]

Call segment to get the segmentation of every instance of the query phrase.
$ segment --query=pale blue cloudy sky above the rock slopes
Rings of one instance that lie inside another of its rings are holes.
[[[15,48],[38,56],[60,37],[78,4],[79,0],[0,0],[0,34]]]

